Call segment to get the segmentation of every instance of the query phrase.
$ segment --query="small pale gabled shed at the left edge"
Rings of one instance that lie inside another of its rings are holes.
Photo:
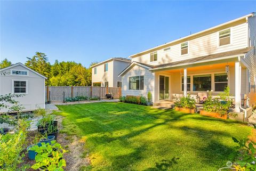
[[[23,111],[33,111],[45,108],[45,79],[43,75],[28,68],[22,63],[16,63],[0,69],[0,95],[23,94],[15,98],[23,105]],[[5,112],[2,109],[0,112]]]

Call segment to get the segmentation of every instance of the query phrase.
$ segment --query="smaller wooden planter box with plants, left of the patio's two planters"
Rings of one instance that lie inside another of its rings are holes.
[[[180,100],[174,103],[175,111],[181,111],[184,113],[195,113],[196,101],[194,98],[190,97],[190,94],[187,96],[181,97]]]

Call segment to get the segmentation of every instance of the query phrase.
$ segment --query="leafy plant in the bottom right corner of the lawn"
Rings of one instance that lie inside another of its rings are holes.
[[[254,125],[254,129],[256,126]],[[245,167],[245,170],[255,171],[256,170],[256,142],[250,141],[249,139],[237,140],[232,137],[233,141],[237,143],[237,154],[239,160],[236,162],[238,165]]]

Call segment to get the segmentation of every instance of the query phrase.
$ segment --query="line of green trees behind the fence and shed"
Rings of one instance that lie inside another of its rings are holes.
[[[90,66],[96,63],[92,62]],[[0,62],[0,68],[11,64],[9,60],[4,59]],[[51,64],[46,54],[36,52],[31,58],[27,57],[25,65],[47,77],[46,86],[91,86],[92,84],[92,69],[74,61],[55,60],[54,64]]]

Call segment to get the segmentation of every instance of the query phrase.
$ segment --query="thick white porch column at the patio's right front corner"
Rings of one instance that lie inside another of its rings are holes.
[[[240,101],[240,94],[239,94],[240,84],[239,84],[239,62],[235,63],[235,112],[240,112],[239,109],[239,101]]]

